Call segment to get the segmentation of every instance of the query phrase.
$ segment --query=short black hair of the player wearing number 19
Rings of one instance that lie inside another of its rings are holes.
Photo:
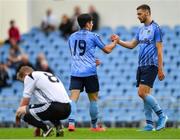
[[[90,14],[81,14],[77,18],[80,28],[84,28],[86,26],[86,23],[88,23],[92,20],[93,20],[93,18]]]

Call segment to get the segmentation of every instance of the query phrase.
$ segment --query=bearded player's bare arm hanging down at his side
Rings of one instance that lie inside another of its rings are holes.
[[[163,45],[161,42],[156,43],[157,53],[158,53],[158,78],[162,81],[165,78],[163,72]]]

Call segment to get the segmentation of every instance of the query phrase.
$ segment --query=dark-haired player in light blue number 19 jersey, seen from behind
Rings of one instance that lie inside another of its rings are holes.
[[[91,130],[104,131],[105,129],[97,124],[99,82],[96,71],[96,62],[98,61],[95,58],[95,49],[98,47],[105,53],[111,53],[115,48],[118,39],[105,45],[98,34],[91,32],[93,19],[89,14],[81,14],[77,20],[81,30],[73,33],[68,40],[72,59],[69,87],[71,90],[70,99],[72,100],[72,103],[68,130],[75,130],[76,102],[80,92],[85,88],[90,101],[89,112],[91,117]]]

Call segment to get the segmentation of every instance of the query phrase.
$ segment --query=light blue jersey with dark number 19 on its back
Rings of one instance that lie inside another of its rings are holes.
[[[105,44],[99,35],[88,30],[73,33],[68,40],[71,51],[71,76],[87,77],[96,75],[96,46],[100,49]]]

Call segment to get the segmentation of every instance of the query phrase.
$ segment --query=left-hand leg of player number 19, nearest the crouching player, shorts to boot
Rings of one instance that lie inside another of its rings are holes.
[[[68,130],[75,130],[75,119],[76,119],[76,103],[79,99],[80,92],[83,91],[83,78],[71,76],[70,87],[71,91],[71,114],[69,116]]]

